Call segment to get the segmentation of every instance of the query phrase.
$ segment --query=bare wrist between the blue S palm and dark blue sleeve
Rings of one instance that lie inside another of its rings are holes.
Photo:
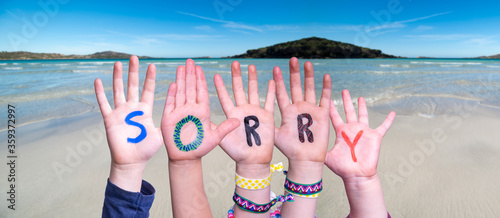
[[[120,165],[112,162],[109,181],[123,190],[140,192],[145,168],[146,163]]]

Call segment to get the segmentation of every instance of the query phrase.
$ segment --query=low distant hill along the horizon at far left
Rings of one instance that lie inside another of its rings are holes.
[[[0,60],[44,60],[44,59],[128,59],[131,54],[103,51],[90,55],[63,55],[57,53],[33,53],[26,51],[0,52]],[[152,59],[148,56],[138,56],[139,59]]]

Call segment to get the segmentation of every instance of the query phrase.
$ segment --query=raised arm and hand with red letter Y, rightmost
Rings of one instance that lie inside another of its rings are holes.
[[[326,156],[325,164],[344,181],[351,207],[350,217],[387,217],[384,195],[377,174],[382,138],[391,127],[396,113],[391,112],[376,129],[368,125],[368,112],[363,97],[358,99],[359,119],[349,91],[342,92],[346,123],[342,121],[333,101],[330,118],[336,133],[335,146]]]

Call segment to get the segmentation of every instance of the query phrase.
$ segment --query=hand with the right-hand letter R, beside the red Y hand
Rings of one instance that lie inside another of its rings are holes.
[[[281,127],[276,129],[276,146],[290,162],[323,164],[328,147],[330,123],[331,79],[323,77],[323,92],[319,106],[316,105],[314,70],[311,62],[304,64],[305,96],[302,94],[300,68],[297,58],[290,59],[290,92],[292,103],[286,92],[279,67],[274,68],[274,80],[278,106],[281,112]],[[302,136],[301,136],[302,135]],[[317,181],[316,181],[317,182]]]

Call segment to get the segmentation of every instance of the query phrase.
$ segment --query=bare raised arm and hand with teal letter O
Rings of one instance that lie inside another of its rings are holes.
[[[200,66],[188,59],[185,67],[177,68],[161,121],[174,217],[212,217],[201,158],[238,125],[236,119],[228,119],[218,127],[210,122],[207,82]]]

